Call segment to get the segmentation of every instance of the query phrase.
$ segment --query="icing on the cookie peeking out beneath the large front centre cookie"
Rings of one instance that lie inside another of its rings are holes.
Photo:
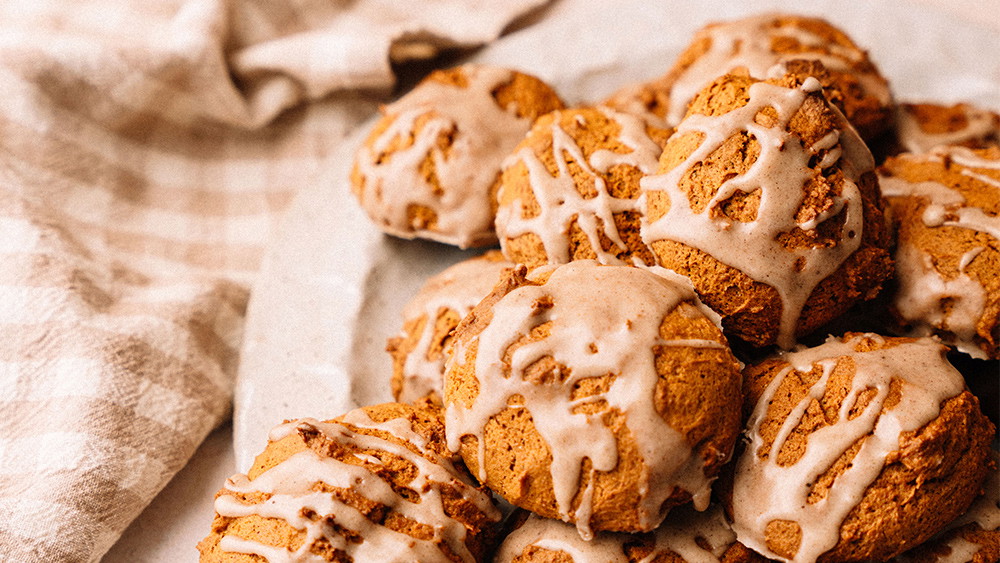
[[[664,553],[673,552],[687,563],[719,563],[719,557],[736,541],[722,509],[713,506],[705,512],[678,507],[653,534],[653,550],[637,563],[652,563]],[[696,540],[707,543],[703,549]],[[530,546],[568,554],[573,563],[629,563],[625,544],[632,534],[599,533],[584,541],[576,530],[558,520],[531,515],[511,532],[500,545],[494,563],[510,563]]]

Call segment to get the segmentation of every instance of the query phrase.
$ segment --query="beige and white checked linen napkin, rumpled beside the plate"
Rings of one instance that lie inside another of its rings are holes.
[[[390,53],[539,3],[0,3],[0,560],[99,559],[225,419],[262,249]]]

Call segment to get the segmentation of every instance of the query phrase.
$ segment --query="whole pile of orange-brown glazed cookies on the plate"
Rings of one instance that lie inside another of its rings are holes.
[[[272,432],[203,561],[1000,560],[996,114],[767,14],[592,106],[435,72],[351,182],[499,250],[402,311],[399,403]]]

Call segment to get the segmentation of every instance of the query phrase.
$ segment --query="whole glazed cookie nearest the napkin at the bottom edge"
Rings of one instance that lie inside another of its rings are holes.
[[[500,512],[451,459],[432,406],[286,422],[219,491],[201,561],[486,561]]]

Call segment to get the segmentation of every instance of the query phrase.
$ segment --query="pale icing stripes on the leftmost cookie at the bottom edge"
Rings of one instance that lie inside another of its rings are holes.
[[[363,416],[362,416],[363,415]],[[412,429],[405,419],[404,425],[376,424],[367,414],[356,412],[348,416],[358,424],[371,424],[371,428],[385,430],[394,435],[408,436]],[[441,485],[447,484],[459,491],[463,498],[475,504],[489,518],[499,521],[500,514],[490,499],[482,492],[469,487],[459,480],[458,473],[450,461],[430,453],[419,455],[405,447],[376,436],[350,430],[335,422],[319,422],[301,419],[285,423],[276,428],[272,439],[291,435],[299,431],[319,431],[328,439],[361,449],[383,451],[403,458],[417,469],[417,476],[407,486],[419,495],[418,502],[411,502],[396,493],[386,481],[365,467],[345,463],[329,457],[321,457],[312,450],[305,450],[258,475],[251,480],[246,475],[235,475],[226,482],[225,489],[233,493],[264,493],[269,497],[256,504],[243,504],[235,497],[223,494],[215,501],[215,509],[221,516],[236,518],[258,515],[264,518],[284,520],[296,530],[305,532],[302,546],[291,551],[260,542],[223,537],[219,546],[223,551],[250,553],[264,557],[272,563],[323,561],[310,553],[310,548],[319,539],[325,539],[334,549],[346,552],[355,561],[448,561],[438,548],[438,543],[447,544],[451,551],[463,561],[473,561],[472,554],[465,546],[466,530],[462,523],[449,517],[444,511]],[[398,436],[402,438],[402,436]],[[359,459],[370,456],[359,455]],[[428,459],[432,457],[432,459]],[[416,522],[434,528],[434,538],[418,540],[396,532],[368,520],[363,513],[339,501],[330,493],[316,491],[316,483],[331,487],[350,488],[359,495],[385,505],[392,511]],[[310,518],[309,516],[313,517]],[[362,541],[348,540],[342,534],[330,533],[325,520],[333,520],[337,525],[358,534]]]

